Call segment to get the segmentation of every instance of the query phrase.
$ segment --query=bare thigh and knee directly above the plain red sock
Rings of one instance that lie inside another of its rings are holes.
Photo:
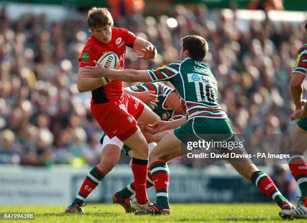
[[[139,129],[123,142],[131,148],[133,157],[138,159],[148,159],[148,144]]]

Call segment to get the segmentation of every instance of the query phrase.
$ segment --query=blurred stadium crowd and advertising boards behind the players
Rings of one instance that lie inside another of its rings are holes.
[[[288,83],[304,41],[301,11],[307,6],[301,1],[186,2],[0,1],[0,205],[68,204],[100,160],[101,130],[90,112],[90,93],[80,94],[76,87],[91,6],[108,7],[115,26],[157,47],[154,61],[137,61],[128,50],[126,68],[179,60],[181,37],[200,35],[209,43],[205,63],[218,80],[219,100],[235,131],[291,130]],[[87,201],[110,202],[132,179],[128,161],[123,155]],[[286,165],[261,168],[296,201]],[[175,160],[170,169],[171,202],[269,201],[224,162]]]

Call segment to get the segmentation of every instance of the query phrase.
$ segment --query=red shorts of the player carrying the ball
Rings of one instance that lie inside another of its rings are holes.
[[[102,130],[110,139],[116,136],[121,141],[136,132],[136,120],[143,109],[144,103],[141,100],[126,93],[114,102],[91,104],[92,114]]]

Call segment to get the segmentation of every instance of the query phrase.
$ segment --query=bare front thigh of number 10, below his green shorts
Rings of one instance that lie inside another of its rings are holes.
[[[166,135],[149,154],[149,162],[165,161],[182,156],[181,141],[174,132]]]

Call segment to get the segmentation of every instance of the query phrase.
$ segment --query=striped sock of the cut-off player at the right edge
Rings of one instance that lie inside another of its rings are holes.
[[[289,168],[302,196],[307,195],[307,163],[302,153],[292,152],[288,158]]]

